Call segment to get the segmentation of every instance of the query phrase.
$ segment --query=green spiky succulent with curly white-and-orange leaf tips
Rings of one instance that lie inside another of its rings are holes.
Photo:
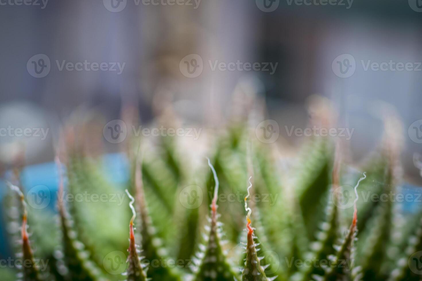
[[[212,156],[208,166],[202,156],[189,163],[175,138],[141,143],[125,158],[123,183],[111,181],[98,158],[68,145],[72,149],[66,152],[63,177],[57,161],[55,213],[28,206],[22,193],[28,187],[10,184],[3,208],[16,252],[12,258],[28,262],[0,268],[2,279],[422,277],[420,213],[405,213],[392,200],[357,196],[358,190],[379,196],[400,187],[400,149],[388,140],[358,168],[342,163],[342,151],[326,137],[309,138],[286,168],[273,156],[274,147],[255,141],[242,124],[216,137],[216,146],[206,152]],[[355,187],[350,190],[347,185]],[[120,204],[110,198],[65,199],[85,192],[123,199]],[[346,202],[354,194],[353,204]],[[37,261],[48,265],[41,268]],[[15,273],[18,277],[11,277]]]

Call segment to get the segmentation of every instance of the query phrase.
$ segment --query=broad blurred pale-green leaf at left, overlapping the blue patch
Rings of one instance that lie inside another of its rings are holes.
[[[78,233],[78,240],[85,245],[99,268],[102,268],[103,258],[108,253],[124,249],[124,221],[129,219],[127,211],[121,206],[124,192],[110,185],[102,167],[100,161],[76,153],[71,155],[67,165],[67,190],[63,198],[58,198],[68,202],[67,211]]]

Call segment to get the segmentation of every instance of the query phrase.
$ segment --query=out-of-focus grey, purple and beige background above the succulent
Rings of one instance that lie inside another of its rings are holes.
[[[422,134],[420,123],[411,126],[422,119],[420,2],[1,1],[0,128],[49,128],[45,139],[0,137],[3,167],[16,159],[16,141],[26,145],[25,163],[51,161],[57,128],[78,108],[98,110],[107,122],[130,104],[149,122],[170,105],[184,120],[212,127],[233,114],[236,95],[248,93],[265,101],[278,141],[295,147],[300,137],[285,126],[304,128],[306,102],[319,94],[333,101],[339,127],[354,128],[352,162],[381,139],[381,109],[395,110],[406,177],[420,184],[412,162],[420,143],[410,136]],[[411,64],[373,65],[390,61]],[[220,62],[242,65],[227,70]],[[199,64],[199,74],[183,70]]]

